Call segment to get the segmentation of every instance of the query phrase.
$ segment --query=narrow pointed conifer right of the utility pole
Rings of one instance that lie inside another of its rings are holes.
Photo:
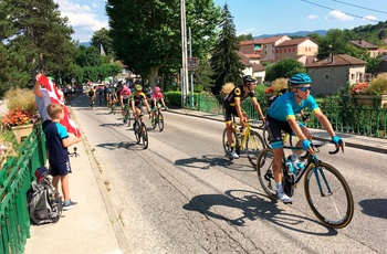
[[[222,9],[221,23],[219,24],[220,33],[210,60],[213,72],[212,78],[215,80],[213,94],[219,94],[226,83],[231,82],[236,85],[242,83],[243,64],[238,55],[239,42],[232,19],[233,17],[226,3]]]

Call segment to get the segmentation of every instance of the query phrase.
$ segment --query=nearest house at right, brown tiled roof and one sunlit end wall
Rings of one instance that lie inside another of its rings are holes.
[[[364,82],[366,62],[351,55],[336,54],[307,64],[306,72],[313,81],[312,94],[334,95],[347,84]]]

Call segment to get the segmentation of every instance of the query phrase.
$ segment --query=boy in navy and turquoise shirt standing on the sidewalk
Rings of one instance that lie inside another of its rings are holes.
[[[69,173],[71,172],[70,157],[67,147],[80,142],[81,137],[69,135],[66,128],[60,124],[64,117],[64,106],[61,104],[50,104],[46,108],[52,121],[44,129],[48,149],[49,162],[51,168],[52,184],[55,189],[61,181],[62,194],[64,199],[63,210],[70,210],[77,205],[70,199]]]

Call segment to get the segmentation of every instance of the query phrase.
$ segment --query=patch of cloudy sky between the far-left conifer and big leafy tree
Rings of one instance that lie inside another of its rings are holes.
[[[84,42],[90,41],[94,32],[108,28],[107,17],[104,8],[93,2],[91,6],[75,3],[79,0],[54,0],[59,6],[62,17],[69,18],[69,24],[73,27],[75,33],[74,40]]]

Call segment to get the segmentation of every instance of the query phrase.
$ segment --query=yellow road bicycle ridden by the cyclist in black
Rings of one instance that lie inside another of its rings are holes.
[[[237,124],[236,117],[232,116],[232,142],[236,144],[236,151],[240,156],[241,151],[245,151],[245,155],[250,161],[250,163],[255,168],[255,161],[258,158],[258,155],[261,150],[265,148],[263,138],[261,135],[254,130],[251,129],[250,123],[253,121],[253,119],[248,119],[245,123],[245,128],[241,133],[240,131],[240,124]],[[231,158],[231,151],[232,147],[227,141],[227,128],[223,130],[223,149],[226,154]]]

